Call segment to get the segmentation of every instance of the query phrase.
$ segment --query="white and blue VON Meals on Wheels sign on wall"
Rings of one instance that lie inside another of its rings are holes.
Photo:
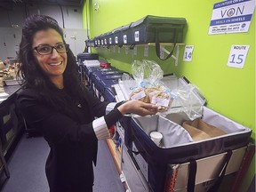
[[[255,0],[229,0],[213,5],[209,35],[248,32]]]

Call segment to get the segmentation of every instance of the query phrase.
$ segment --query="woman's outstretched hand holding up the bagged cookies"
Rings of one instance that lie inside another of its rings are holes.
[[[139,116],[155,115],[157,106],[151,103],[141,102],[140,100],[128,100],[117,108],[123,115],[137,114]]]

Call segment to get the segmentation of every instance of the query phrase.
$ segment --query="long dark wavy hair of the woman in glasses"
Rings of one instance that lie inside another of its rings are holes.
[[[25,88],[33,88],[46,97],[45,99],[52,103],[53,106],[60,109],[61,103],[64,99],[60,95],[60,90],[49,80],[42,69],[37,64],[33,55],[33,38],[36,32],[40,30],[47,30],[52,28],[56,30],[65,43],[63,31],[58,25],[58,22],[46,15],[31,15],[24,23],[22,28],[22,37],[20,42],[20,52],[18,60],[20,68],[18,70],[18,78],[20,84],[24,84]],[[79,80],[78,66],[76,65],[76,58],[71,50],[68,48],[67,67],[64,71],[64,87],[65,91],[70,94],[71,98],[76,101],[82,100],[84,86]],[[20,76],[20,77],[19,77]]]

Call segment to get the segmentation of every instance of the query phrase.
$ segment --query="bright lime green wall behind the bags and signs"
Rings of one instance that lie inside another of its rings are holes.
[[[228,116],[239,124],[252,129],[252,142],[255,140],[255,15],[252,17],[248,33],[208,35],[213,4],[220,1],[201,0],[88,0],[90,10],[91,36],[111,31],[135,20],[151,14],[156,16],[183,17],[188,24],[185,28],[184,42],[194,45],[192,62],[183,62],[184,46],[180,46],[179,64],[174,60],[159,60],[155,48],[149,47],[149,56],[144,57],[144,47],[138,47],[137,55],[125,48],[114,52],[110,49],[99,48],[100,56],[107,59],[116,68],[131,72],[133,60],[155,60],[164,73],[175,73],[186,76],[192,84],[200,89],[207,99],[207,107]],[[98,11],[94,11],[94,4],[99,4]],[[84,10],[85,10],[84,4]],[[88,14],[87,14],[88,15]],[[86,27],[84,14],[84,28]],[[228,55],[232,44],[249,44],[243,69],[228,68]],[[171,49],[172,47],[167,47]],[[255,160],[255,159],[254,159]],[[250,172],[244,179],[244,186],[252,180],[255,164],[251,164]],[[245,188],[244,187],[244,188]]]

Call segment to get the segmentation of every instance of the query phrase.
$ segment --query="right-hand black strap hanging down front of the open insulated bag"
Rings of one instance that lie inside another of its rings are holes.
[[[232,151],[228,150],[227,155],[225,156],[225,159],[223,161],[222,166],[220,167],[220,174],[218,180],[216,180],[215,184],[208,190],[208,192],[216,192],[220,188],[220,184],[225,176],[226,169],[228,167],[228,162],[230,160],[230,157],[232,156]]]

